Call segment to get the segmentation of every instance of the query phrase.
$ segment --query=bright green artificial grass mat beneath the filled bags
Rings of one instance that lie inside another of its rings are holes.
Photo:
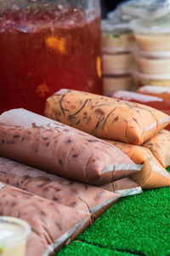
[[[121,198],[56,255],[168,256],[169,213],[170,187]]]

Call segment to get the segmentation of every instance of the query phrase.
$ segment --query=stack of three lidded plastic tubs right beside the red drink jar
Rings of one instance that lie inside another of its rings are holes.
[[[133,79],[130,74],[133,65],[131,48],[133,32],[124,24],[102,21],[102,71],[105,96],[112,96],[116,90],[131,90]]]

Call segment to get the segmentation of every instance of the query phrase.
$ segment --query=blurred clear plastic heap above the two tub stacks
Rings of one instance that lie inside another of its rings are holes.
[[[114,23],[129,22],[134,18],[156,20],[170,12],[168,0],[131,0],[118,5],[108,14]]]

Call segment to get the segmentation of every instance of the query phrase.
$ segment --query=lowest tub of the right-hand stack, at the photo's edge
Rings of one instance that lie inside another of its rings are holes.
[[[146,84],[170,87],[170,73],[149,74],[133,72],[133,79],[137,88]]]

